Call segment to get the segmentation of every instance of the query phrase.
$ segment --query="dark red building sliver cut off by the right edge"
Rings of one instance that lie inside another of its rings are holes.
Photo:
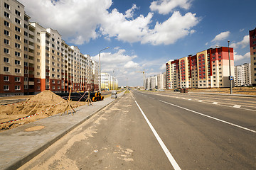
[[[256,28],[249,31],[252,86],[256,86]]]

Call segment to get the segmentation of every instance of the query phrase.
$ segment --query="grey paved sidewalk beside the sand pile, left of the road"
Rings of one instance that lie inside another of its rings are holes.
[[[117,99],[124,94],[117,94]],[[0,132],[0,169],[18,169],[92,115],[112,103],[114,98],[75,108],[74,115],[53,115],[18,128]],[[27,132],[28,128],[43,128]]]

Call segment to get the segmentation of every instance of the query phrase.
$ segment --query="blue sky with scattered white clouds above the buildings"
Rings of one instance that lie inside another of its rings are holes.
[[[255,0],[18,0],[31,22],[58,30],[68,45],[98,61],[119,86],[142,86],[143,74],[216,45],[234,48],[235,65],[250,63]]]

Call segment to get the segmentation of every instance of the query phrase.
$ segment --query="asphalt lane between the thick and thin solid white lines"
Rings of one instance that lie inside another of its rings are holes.
[[[255,169],[255,134],[134,93],[181,169]]]

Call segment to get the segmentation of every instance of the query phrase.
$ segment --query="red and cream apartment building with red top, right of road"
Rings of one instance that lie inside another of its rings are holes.
[[[234,75],[233,48],[230,69]],[[229,87],[228,47],[210,48],[166,63],[167,89]]]

